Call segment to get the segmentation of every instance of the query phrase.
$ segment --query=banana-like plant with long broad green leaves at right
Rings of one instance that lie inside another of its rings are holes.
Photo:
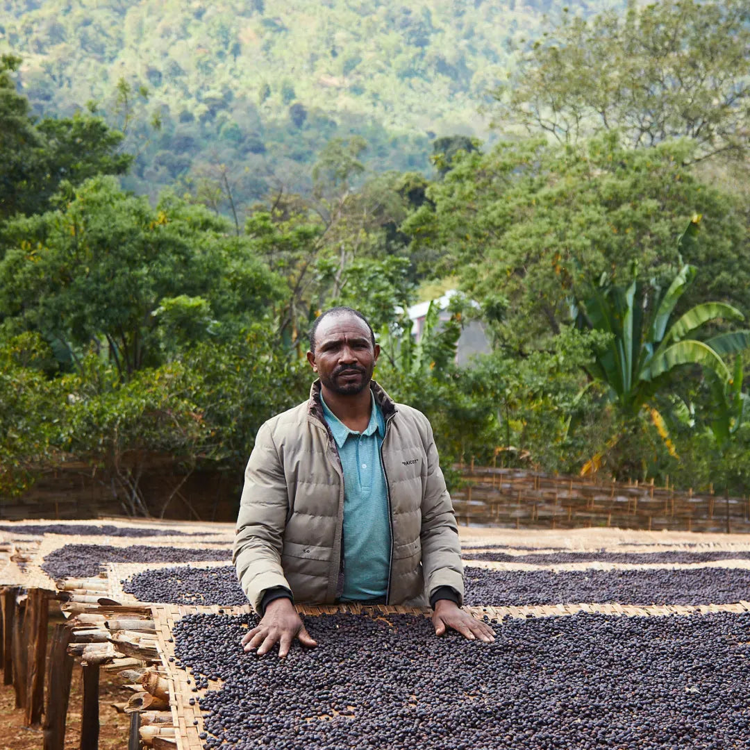
[[[679,249],[694,242],[700,217],[694,217],[679,239]],[[719,383],[730,380],[724,356],[750,347],[750,331],[724,333],[702,340],[700,329],[712,320],[744,320],[724,302],[705,302],[672,321],[679,299],[697,270],[684,265],[669,288],[658,289],[634,280],[628,287],[601,282],[589,299],[576,302],[576,325],[610,334],[604,350],[589,365],[589,374],[608,386],[624,416],[635,416],[664,389],[675,368],[701,365]],[[650,296],[655,294],[655,304]],[[671,325],[670,325],[671,323]]]

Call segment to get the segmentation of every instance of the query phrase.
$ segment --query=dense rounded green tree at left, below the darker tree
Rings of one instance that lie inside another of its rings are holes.
[[[205,208],[165,196],[151,208],[114,178],[64,187],[60,208],[7,223],[0,314],[68,347],[90,344],[121,378],[160,362],[154,316],[165,299],[202,297],[226,325],[255,320],[280,282],[248,242]]]

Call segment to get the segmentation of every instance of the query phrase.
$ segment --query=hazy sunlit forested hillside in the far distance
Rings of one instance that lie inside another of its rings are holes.
[[[574,0],[588,16],[622,2]],[[87,106],[126,131],[127,187],[239,199],[307,190],[334,137],[374,171],[427,171],[439,136],[487,136],[490,89],[541,34],[551,0],[5,0],[0,52],[40,115]],[[225,167],[221,165],[226,165]],[[208,200],[210,202],[210,199]]]

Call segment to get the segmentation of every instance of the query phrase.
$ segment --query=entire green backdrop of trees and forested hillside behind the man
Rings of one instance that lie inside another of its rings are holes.
[[[38,49],[0,55],[0,496],[74,463],[144,513],[167,464],[161,512],[191,472],[240,478],[259,426],[306,398],[306,334],[333,305],[371,321],[378,381],[428,415],[448,472],[747,495],[746,0],[562,11],[512,54],[490,40],[512,13],[502,38],[532,27],[519,2],[296,7],[304,23],[260,1],[4,21]],[[456,133],[508,60],[493,141]],[[101,114],[74,113],[92,93]],[[416,341],[404,311],[451,288]],[[490,351],[463,366],[472,319]]]

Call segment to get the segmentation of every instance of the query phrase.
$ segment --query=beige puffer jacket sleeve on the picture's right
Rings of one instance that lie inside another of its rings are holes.
[[[440,586],[450,586],[458,593],[460,606],[463,602],[463,562],[458,525],[446,480],[440,470],[432,428],[425,416],[422,419],[425,421],[425,431],[422,434],[427,452],[427,478],[422,493],[420,534],[425,593],[429,599]]]

